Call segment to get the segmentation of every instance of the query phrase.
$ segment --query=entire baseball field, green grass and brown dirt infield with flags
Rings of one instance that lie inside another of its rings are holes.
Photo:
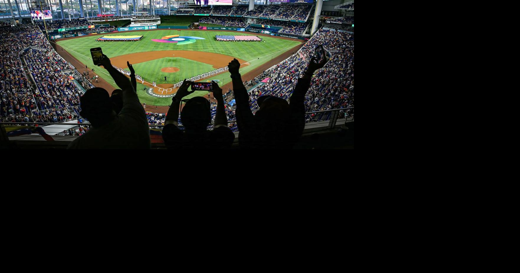
[[[57,44],[67,54],[94,68],[99,77],[117,88],[108,72],[94,66],[90,57],[90,48],[101,47],[112,64],[128,70],[129,61],[136,74],[145,83],[137,83],[139,99],[147,105],[169,106],[171,96],[176,92],[173,84],[204,72],[227,66],[236,58],[240,61],[240,73],[244,75],[262,64],[274,59],[286,51],[293,50],[301,44],[300,40],[287,40],[269,36],[261,36],[265,42],[219,42],[215,35],[254,35],[248,32],[199,31],[199,30],[154,30],[106,33],[105,35],[143,35],[140,41],[96,42],[101,36],[84,36],[70,40],[58,40]],[[178,36],[175,36],[178,35]],[[58,51],[61,55],[64,53]],[[75,64],[74,64],[75,65]],[[166,81],[164,80],[166,77]],[[220,86],[231,81],[229,72],[224,72],[200,81],[216,80]],[[152,86],[157,83],[157,87]],[[226,92],[226,90],[224,90]],[[192,96],[203,96],[204,91]],[[167,97],[165,97],[167,96]],[[189,98],[189,97],[187,97]]]

